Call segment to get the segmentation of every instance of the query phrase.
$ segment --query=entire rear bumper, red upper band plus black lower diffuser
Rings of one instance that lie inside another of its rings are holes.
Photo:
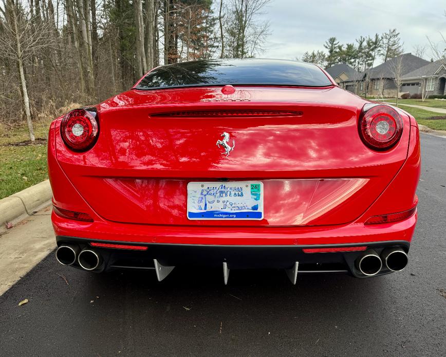
[[[113,222],[100,226],[99,222],[77,222],[52,215],[58,246],[70,243],[94,249],[102,256],[98,272],[154,269],[154,259],[166,266],[221,266],[226,262],[229,269],[289,269],[298,261],[299,274],[348,273],[355,277],[365,277],[355,267],[362,252],[305,253],[303,249],[367,246],[380,254],[384,248],[398,246],[407,253],[416,219],[415,214],[401,222],[374,226],[191,228]],[[147,250],[98,248],[91,242],[139,245]],[[73,266],[79,267],[77,263]],[[383,267],[377,275],[387,273],[390,271]]]

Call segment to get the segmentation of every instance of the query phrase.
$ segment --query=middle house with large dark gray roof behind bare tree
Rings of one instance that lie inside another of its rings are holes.
[[[363,73],[360,83],[359,93],[369,96],[396,97],[397,86],[395,84],[396,68],[399,65],[399,74],[405,77],[407,74],[429,64],[420,57],[412,55],[412,53],[403,53],[400,56],[392,58],[376,67],[367,69]],[[401,91],[400,93],[404,92]]]

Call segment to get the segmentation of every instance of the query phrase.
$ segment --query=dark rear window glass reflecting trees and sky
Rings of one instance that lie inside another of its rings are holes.
[[[161,66],[136,86],[139,90],[209,85],[332,85],[322,70],[310,63],[286,60],[205,60]]]

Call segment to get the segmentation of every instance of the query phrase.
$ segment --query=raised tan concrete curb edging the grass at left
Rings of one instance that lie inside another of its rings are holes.
[[[7,223],[16,223],[50,204],[52,197],[49,180],[28,187],[0,200],[0,233]]]

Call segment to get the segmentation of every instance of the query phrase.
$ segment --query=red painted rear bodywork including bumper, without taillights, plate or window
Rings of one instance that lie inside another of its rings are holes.
[[[369,102],[338,86],[236,86],[230,95],[221,89],[131,90],[110,98],[96,106],[100,134],[86,152],[67,149],[62,118],[54,120],[48,140],[53,204],[93,219],[53,212],[56,235],[249,246],[411,241],[416,213],[394,223],[364,223],[416,206],[420,144],[413,117],[399,111],[400,140],[378,152],[358,132]],[[225,110],[283,114],[175,114]],[[237,143],[229,157],[215,145],[222,132]],[[188,220],[187,184],[221,179],[262,181],[264,219]]]

